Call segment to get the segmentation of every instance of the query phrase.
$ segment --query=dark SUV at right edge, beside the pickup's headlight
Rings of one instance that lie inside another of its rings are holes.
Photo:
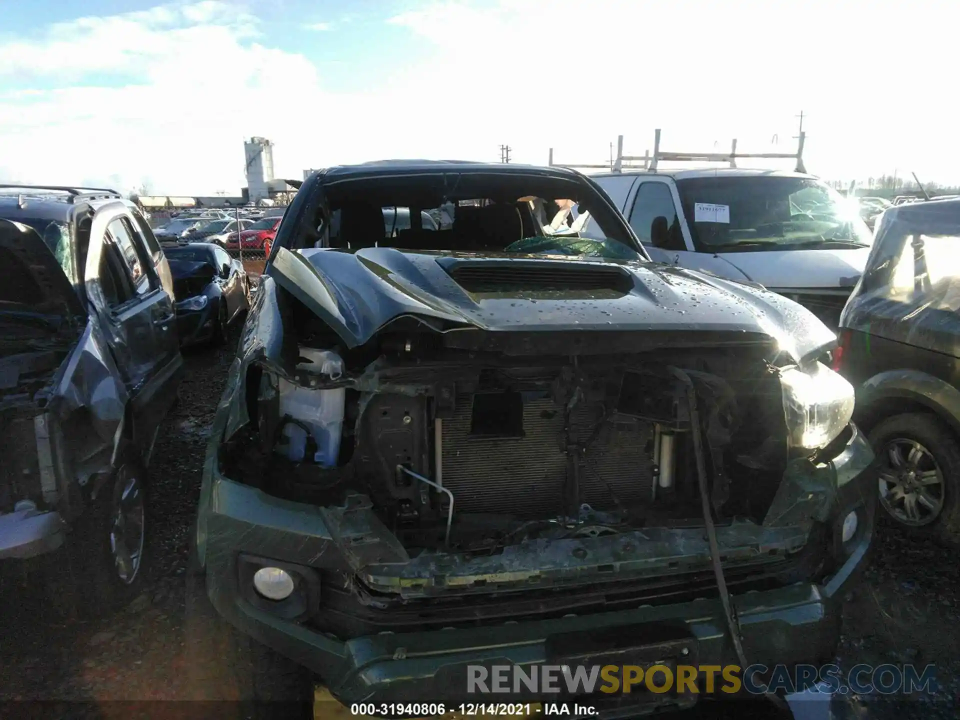
[[[882,464],[880,504],[944,540],[960,540],[958,251],[960,200],[886,210],[834,359]]]

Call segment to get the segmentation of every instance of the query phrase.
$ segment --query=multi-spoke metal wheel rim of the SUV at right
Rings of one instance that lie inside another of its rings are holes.
[[[880,504],[894,519],[921,527],[944,509],[947,486],[933,453],[915,440],[887,441],[880,453]]]

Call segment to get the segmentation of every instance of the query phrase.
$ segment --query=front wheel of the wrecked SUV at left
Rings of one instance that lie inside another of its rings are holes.
[[[146,469],[130,452],[67,538],[78,615],[113,612],[143,591],[150,548],[148,501]]]

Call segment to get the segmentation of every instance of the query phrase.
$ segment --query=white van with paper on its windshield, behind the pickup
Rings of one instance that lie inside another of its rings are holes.
[[[805,173],[710,168],[592,179],[655,261],[763,285],[831,328],[873,242],[855,206]]]

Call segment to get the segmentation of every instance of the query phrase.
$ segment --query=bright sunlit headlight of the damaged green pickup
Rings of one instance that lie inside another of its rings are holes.
[[[790,447],[816,450],[850,423],[853,386],[823,363],[780,371]]]

